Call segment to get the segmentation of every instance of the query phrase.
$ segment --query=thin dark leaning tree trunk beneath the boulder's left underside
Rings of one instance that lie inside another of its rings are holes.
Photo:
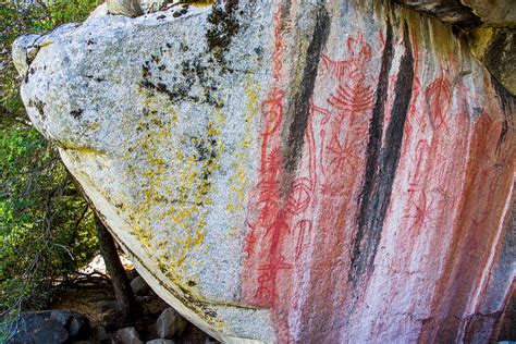
[[[108,273],[111,277],[120,310],[124,315],[126,321],[133,322],[139,315],[139,307],[134,297],[133,290],[131,288],[131,283],[125,273],[124,266],[120,261],[116,245],[114,244],[111,233],[109,233],[98,216],[95,216],[95,224],[97,226],[100,253],[106,262]]]

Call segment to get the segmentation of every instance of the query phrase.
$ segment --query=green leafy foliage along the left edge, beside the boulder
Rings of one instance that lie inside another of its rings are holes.
[[[96,5],[96,0],[47,5],[0,0],[0,342],[12,333],[17,311],[40,308],[52,286],[98,247],[91,211],[56,147],[25,113],[11,45],[20,35],[83,21]]]

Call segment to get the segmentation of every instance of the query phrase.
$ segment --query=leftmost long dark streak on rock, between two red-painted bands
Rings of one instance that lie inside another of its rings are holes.
[[[330,16],[328,15],[327,9],[321,5],[317,13],[312,38],[306,51],[300,86],[294,93],[286,113],[286,118],[292,119],[284,156],[284,168],[287,171],[296,170],[303,150],[307,119],[310,111],[309,101],[316,85],[317,69],[319,66],[322,48],[329,35]]]

